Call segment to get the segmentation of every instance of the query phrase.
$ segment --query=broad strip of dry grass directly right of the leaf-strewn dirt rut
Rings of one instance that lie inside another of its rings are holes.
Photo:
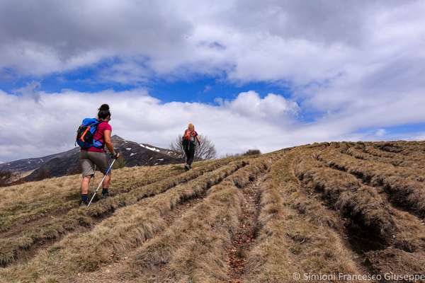
[[[283,156],[262,185],[262,228],[247,258],[245,282],[297,282],[295,272],[301,279],[305,273],[365,273],[333,228],[339,220],[302,192],[292,165],[301,153]]]

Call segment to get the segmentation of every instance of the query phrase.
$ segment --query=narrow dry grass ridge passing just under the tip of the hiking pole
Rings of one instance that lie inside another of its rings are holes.
[[[200,175],[220,168],[226,163],[228,163],[228,160],[217,161],[207,166],[193,169],[193,171],[166,178],[157,183],[135,188],[128,193],[96,202],[91,205],[90,209],[72,209],[57,219],[51,219],[40,226],[31,227],[20,236],[2,238],[0,239],[0,265],[8,265],[16,260],[26,259],[28,256],[31,257],[33,251],[26,253],[27,250],[39,248],[46,241],[55,241],[79,227],[93,226],[98,219],[111,215],[118,207],[135,204],[145,197],[165,192],[171,187],[198,178]]]

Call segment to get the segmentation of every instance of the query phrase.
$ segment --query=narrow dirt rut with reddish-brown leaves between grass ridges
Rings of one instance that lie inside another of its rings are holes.
[[[244,200],[241,202],[242,214],[239,216],[239,227],[232,237],[232,246],[227,250],[229,260],[229,282],[244,281],[246,275],[246,255],[258,236],[260,214],[260,186],[266,173],[259,175],[253,183],[242,189]]]

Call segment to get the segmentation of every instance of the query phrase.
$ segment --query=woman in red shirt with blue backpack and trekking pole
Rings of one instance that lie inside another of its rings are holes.
[[[111,183],[111,168],[113,163],[109,166],[105,146],[110,152],[111,158],[114,159],[113,162],[120,157],[120,154],[113,149],[111,141],[112,127],[109,125],[110,120],[111,112],[109,111],[109,105],[103,104],[98,109],[98,117],[84,119],[77,130],[77,144],[81,147],[80,164],[83,175],[83,180],[81,181],[81,206],[89,206],[94,198],[93,195],[89,202],[89,185],[96,167],[104,175],[101,184],[99,184],[99,187],[102,185],[102,197],[108,197],[109,195],[108,188]]]

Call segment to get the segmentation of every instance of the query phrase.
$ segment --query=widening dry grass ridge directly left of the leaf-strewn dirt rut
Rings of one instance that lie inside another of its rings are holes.
[[[242,190],[271,162],[273,158],[251,161],[212,187],[203,202],[139,248],[130,274],[138,281],[227,282],[231,267],[226,250],[241,221]]]

